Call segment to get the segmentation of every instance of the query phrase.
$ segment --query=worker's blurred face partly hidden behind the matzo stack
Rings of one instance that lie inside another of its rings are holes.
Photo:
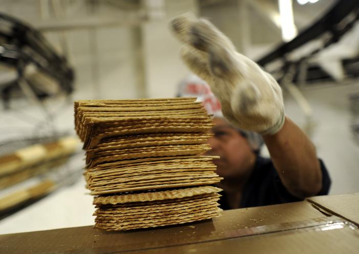
[[[245,137],[223,118],[214,118],[214,134],[208,140],[211,150],[206,155],[220,156],[214,159],[217,174],[221,177],[243,177],[254,165],[255,155]]]

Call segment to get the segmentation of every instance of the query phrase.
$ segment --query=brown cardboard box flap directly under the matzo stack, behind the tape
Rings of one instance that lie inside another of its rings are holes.
[[[331,219],[303,201],[228,210],[212,220],[163,228],[108,232],[86,226],[0,235],[0,253],[120,253],[172,246],[181,250],[180,246],[199,243],[205,246],[203,251],[206,252],[211,250],[207,245],[221,246],[213,241],[256,238],[263,232],[270,236],[277,231],[326,224]],[[248,246],[251,245],[249,241],[245,240]],[[223,247],[218,249],[223,250]]]

